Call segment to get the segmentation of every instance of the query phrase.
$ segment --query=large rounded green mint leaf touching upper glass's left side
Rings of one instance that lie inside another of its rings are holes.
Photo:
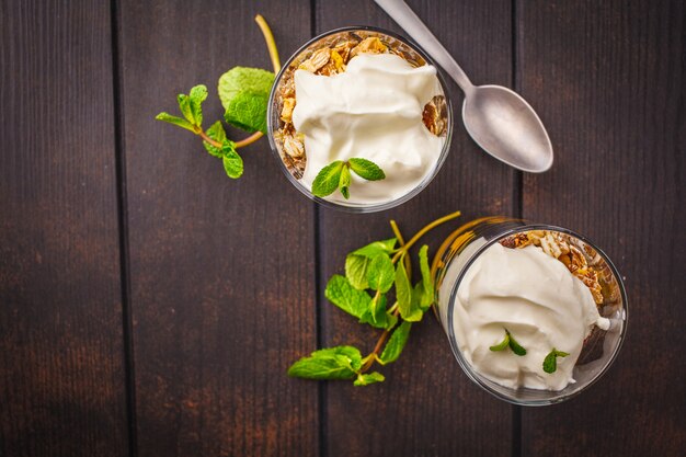
[[[266,135],[266,108],[274,73],[259,68],[233,67],[219,78],[217,91],[226,122],[247,132]]]

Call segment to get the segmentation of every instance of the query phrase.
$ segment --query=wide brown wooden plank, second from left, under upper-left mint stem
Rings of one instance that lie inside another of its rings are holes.
[[[153,116],[219,76],[271,68],[309,37],[307,2],[137,2],[122,8],[138,443],[141,455],[312,455],[317,389],[286,377],[316,342],[312,204],[265,139],[229,180],[197,138]],[[213,119],[213,121],[210,121]],[[238,134],[240,135],[240,134]]]

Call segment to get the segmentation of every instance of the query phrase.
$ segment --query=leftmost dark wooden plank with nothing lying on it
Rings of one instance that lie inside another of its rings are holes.
[[[0,3],[0,455],[128,454],[110,5]]]

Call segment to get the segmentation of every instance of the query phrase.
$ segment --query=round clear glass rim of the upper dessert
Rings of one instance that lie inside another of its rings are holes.
[[[343,33],[343,32],[352,32],[352,31],[368,31],[368,32],[376,32],[376,33],[380,33],[384,35],[388,35],[391,38],[398,39],[399,42],[405,44],[407,46],[411,47],[413,52],[415,52],[416,54],[419,54],[420,57],[422,57],[425,61],[426,65],[432,65],[436,68],[436,78],[438,79],[438,84],[441,85],[441,90],[442,90],[442,94],[445,98],[445,103],[446,103],[446,112],[447,112],[447,125],[446,125],[446,135],[445,135],[445,141],[443,144],[443,147],[441,149],[441,155],[438,156],[438,160],[436,161],[436,163],[433,167],[433,170],[414,187],[412,188],[410,192],[399,196],[398,198],[395,198],[392,201],[389,202],[384,202],[384,203],[375,203],[375,204],[343,204],[343,203],[338,203],[338,202],[331,202],[328,201],[325,198],[321,198],[318,197],[316,195],[312,194],[312,192],[310,190],[308,190],[305,185],[302,185],[302,183],[300,183],[300,180],[296,179],[290,171],[288,170],[288,168],[286,167],[286,164],[284,163],[283,159],[281,158],[281,153],[278,151],[278,148],[276,146],[276,142],[274,141],[274,125],[272,123],[272,118],[273,118],[273,106],[274,106],[274,100],[276,96],[276,90],[278,88],[278,84],[282,80],[282,78],[284,77],[285,71],[290,67],[290,64],[298,57],[300,56],[308,47],[310,47],[312,44],[317,43],[320,39],[323,39],[330,35],[334,35],[338,33]],[[315,203],[328,207],[328,208],[333,208],[336,210],[342,210],[342,212],[346,212],[346,213],[355,213],[355,214],[365,214],[365,213],[377,213],[377,212],[382,212],[386,209],[391,209],[395,208],[396,206],[400,206],[403,203],[410,201],[411,198],[415,197],[419,193],[421,193],[425,187],[428,186],[428,184],[434,180],[434,178],[436,178],[436,175],[438,174],[438,172],[441,171],[441,169],[443,168],[443,164],[445,163],[445,160],[448,157],[448,153],[450,151],[450,142],[453,139],[453,128],[454,128],[454,117],[453,117],[453,104],[450,102],[450,98],[448,96],[448,90],[447,90],[447,84],[446,81],[442,75],[442,69],[441,67],[426,54],[426,52],[420,46],[418,45],[414,41],[412,41],[409,37],[405,36],[401,36],[395,32],[390,32],[387,31],[385,28],[380,28],[380,27],[376,27],[373,25],[347,25],[344,27],[338,27],[338,28],[333,28],[330,30],[328,32],[323,32],[310,39],[307,41],[307,43],[305,43],[302,46],[300,46],[295,53],[293,53],[293,55],[288,58],[288,60],[286,60],[286,62],[282,66],[281,70],[278,71],[278,73],[276,73],[276,77],[274,78],[274,84],[272,85],[272,90],[270,91],[270,100],[267,103],[267,113],[266,113],[266,132],[267,132],[267,138],[270,140],[270,147],[272,148],[272,155],[277,159],[278,161],[278,165],[282,169],[282,171],[286,174],[286,178],[288,179],[288,181],[298,190],[300,191],[300,193],[302,193],[306,197],[308,197],[309,199],[313,201]]]

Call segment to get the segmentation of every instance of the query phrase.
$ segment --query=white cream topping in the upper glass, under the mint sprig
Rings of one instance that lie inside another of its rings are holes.
[[[339,75],[296,70],[295,87],[293,123],[305,135],[301,183],[308,188],[334,160],[368,159],[384,170],[385,180],[353,173],[350,199],[338,191],[327,198],[379,204],[409,193],[434,169],[445,138],[422,122],[424,105],[441,93],[434,67],[414,68],[393,54],[362,54]]]

